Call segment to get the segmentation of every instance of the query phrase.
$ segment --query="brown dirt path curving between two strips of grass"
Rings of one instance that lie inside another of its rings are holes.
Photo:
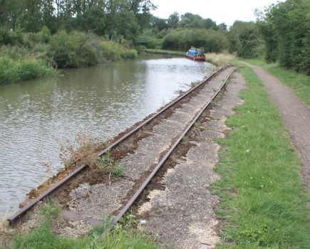
[[[310,108],[304,105],[290,88],[283,85],[266,70],[249,63],[245,64],[253,68],[276,103],[286,127],[289,129],[291,140],[301,155],[302,176],[304,183],[310,189]]]

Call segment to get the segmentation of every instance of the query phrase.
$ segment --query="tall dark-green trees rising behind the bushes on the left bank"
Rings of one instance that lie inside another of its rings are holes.
[[[135,38],[150,22],[150,0],[1,0],[0,23],[12,30],[36,33],[92,31],[99,36]]]

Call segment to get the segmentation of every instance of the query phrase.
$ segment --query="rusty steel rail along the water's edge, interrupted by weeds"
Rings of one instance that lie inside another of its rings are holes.
[[[177,97],[177,99],[173,100],[172,102],[170,102],[169,105],[165,106],[164,108],[162,108],[162,110],[160,110],[159,112],[155,113],[153,116],[151,116],[148,120],[145,120],[144,122],[142,122],[141,124],[139,124],[137,127],[135,127],[134,129],[132,129],[130,132],[124,134],[123,137],[120,137],[120,139],[118,139],[117,141],[113,142],[113,144],[110,144],[107,148],[103,149],[103,151],[98,153],[98,157],[103,156],[103,154],[105,154],[106,152],[110,151],[110,149],[114,149],[115,147],[118,146],[118,144],[120,144],[121,142],[123,142],[125,139],[128,139],[128,137],[130,137],[132,134],[134,134],[135,132],[137,132],[141,127],[145,126],[145,124],[148,124],[149,122],[151,122],[152,120],[155,119],[155,117],[158,117],[159,115],[161,115],[163,112],[165,112],[165,110],[169,109],[170,107],[172,107],[173,105],[175,105],[177,102],[179,102],[180,100],[184,99],[187,95],[189,95],[191,92],[193,92],[194,90],[196,90],[197,88],[200,88],[202,85],[204,85],[205,83],[207,83],[207,81],[209,81],[210,79],[212,79],[215,75],[217,75],[218,73],[222,72],[222,70],[225,70],[226,68],[228,68],[229,66],[224,66],[222,68],[219,68],[219,70],[215,71],[215,73],[212,73],[211,75],[209,75],[204,81],[202,81],[202,83],[198,84],[195,86],[195,88],[191,88],[190,90],[187,90],[186,92],[184,92],[182,95],[180,95],[179,97]],[[73,172],[71,172],[70,174],[68,174],[65,178],[63,178],[61,181],[58,181],[55,185],[53,185],[50,189],[46,190],[45,192],[43,192],[40,196],[38,196],[37,198],[34,198],[30,203],[28,203],[26,206],[24,206],[23,208],[21,208],[19,211],[16,211],[16,213],[14,213],[12,216],[10,216],[9,218],[7,218],[7,221],[9,221],[9,224],[11,225],[12,223],[14,223],[15,221],[17,221],[19,218],[21,218],[21,216],[23,216],[26,212],[28,212],[31,208],[33,208],[33,206],[36,205],[36,203],[38,203],[39,201],[42,201],[44,198],[46,198],[47,196],[51,196],[51,194],[53,194],[55,191],[57,191],[58,189],[60,189],[62,186],[68,184],[76,175],[80,174],[83,170],[85,170],[88,167],[87,164],[83,164],[81,166],[79,166],[77,169],[75,169]]]

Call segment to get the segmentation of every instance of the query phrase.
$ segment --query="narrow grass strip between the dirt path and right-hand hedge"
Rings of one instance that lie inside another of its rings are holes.
[[[294,70],[281,68],[277,63],[267,64],[264,60],[247,60],[252,65],[258,65],[278,78],[281,83],[289,86],[297,97],[310,107],[310,75],[296,73]]]

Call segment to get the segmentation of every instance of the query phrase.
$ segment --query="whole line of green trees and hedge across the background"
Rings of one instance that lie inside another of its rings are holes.
[[[25,45],[19,33],[41,33],[29,36],[48,42],[58,31],[81,37],[71,32],[80,31],[119,43],[127,40],[138,50],[146,46],[187,51],[196,46],[242,58],[264,56],[268,62],[310,74],[309,0],[273,4],[257,12],[257,21],[235,21],[229,28],[191,13],[157,18],[153,9],[151,0],[1,0],[0,45]]]

